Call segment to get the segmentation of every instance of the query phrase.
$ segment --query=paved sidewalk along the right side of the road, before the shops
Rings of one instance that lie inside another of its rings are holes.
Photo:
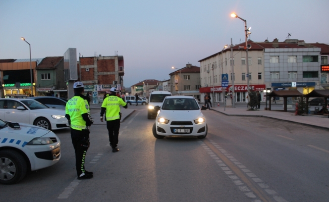
[[[277,102],[278,103],[278,102]],[[249,117],[267,117],[277,120],[289,121],[293,123],[298,123],[302,125],[308,125],[323,129],[329,129],[329,119],[327,116],[323,115],[312,115],[306,114],[305,116],[295,115],[295,111],[293,108],[288,109],[288,112],[282,112],[283,106],[282,104],[272,104],[271,111],[264,110],[265,103],[260,104],[260,109],[254,111],[247,111],[247,104],[236,104],[235,108],[233,107],[226,107],[224,110],[224,105],[220,103],[220,106],[212,106],[211,110],[214,110],[218,113],[225,114],[227,116],[249,116]],[[268,107],[268,103],[267,103]],[[294,107],[294,106],[293,106]],[[315,106],[316,107],[316,106]],[[314,106],[311,106],[314,108]],[[282,111],[279,111],[282,110]]]

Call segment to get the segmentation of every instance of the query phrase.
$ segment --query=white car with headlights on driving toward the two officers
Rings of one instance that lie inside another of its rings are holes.
[[[192,96],[167,96],[158,110],[152,132],[155,138],[165,136],[207,136],[206,119]]]

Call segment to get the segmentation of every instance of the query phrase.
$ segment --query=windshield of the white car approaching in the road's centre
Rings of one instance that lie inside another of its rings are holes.
[[[199,110],[195,99],[191,98],[170,98],[162,105],[162,110]]]

